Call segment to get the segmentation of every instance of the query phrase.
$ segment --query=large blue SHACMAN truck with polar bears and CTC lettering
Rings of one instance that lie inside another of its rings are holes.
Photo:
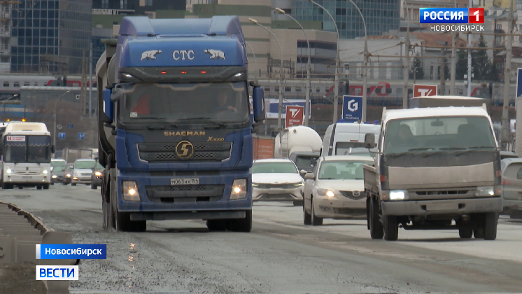
[[[96,68],[104,228],[199,219],[209,230],[250,232],[250,103],[255,122],[265,115],[262,88],[248,83],[239,18],[125,17],[118,39],[104,43]]]

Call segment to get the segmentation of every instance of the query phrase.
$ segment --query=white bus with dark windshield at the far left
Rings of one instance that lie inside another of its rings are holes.
[[[9,123],[1,138],[2,188],[50,186],[50,132],[44,123]]]

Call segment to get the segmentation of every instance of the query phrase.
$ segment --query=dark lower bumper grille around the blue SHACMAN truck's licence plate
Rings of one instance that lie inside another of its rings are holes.
[[[223,197],[225,185],[146,186],[151,202],[213,202]]]

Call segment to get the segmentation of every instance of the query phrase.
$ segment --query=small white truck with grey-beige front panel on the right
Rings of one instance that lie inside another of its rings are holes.
[[[365,137],[367,148],[375,135]],[[364,166],[372,239],[458,230],[493,240],[502,211],[500,153],[486,107],[383,112],[375,163]]]

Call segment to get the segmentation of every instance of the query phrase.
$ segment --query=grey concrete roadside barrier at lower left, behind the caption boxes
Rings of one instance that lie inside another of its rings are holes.
[[[13,204],[0,202],[0,264],[78,265],[80,260],[36,260],[36,244],[72,244],[70,232],[56,232]],[[69,294],[69,281],[44,281],[49,294]]]

